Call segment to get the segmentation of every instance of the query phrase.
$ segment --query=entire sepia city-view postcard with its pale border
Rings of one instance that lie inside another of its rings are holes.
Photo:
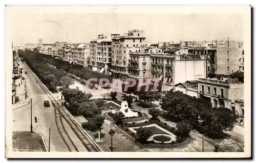
[[[5,10],[6,157],[251,156],[251,6]]]

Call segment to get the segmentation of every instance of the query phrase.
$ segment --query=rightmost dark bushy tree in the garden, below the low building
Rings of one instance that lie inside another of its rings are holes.
[[[232,114],[229,108],[213,107],[205,110],[200,115],[202,125],[209,130],[221,133],[223,130],[232,130],[234,123],[237,122],[237,116]],[[209,132],[207,130],[207,132]]]

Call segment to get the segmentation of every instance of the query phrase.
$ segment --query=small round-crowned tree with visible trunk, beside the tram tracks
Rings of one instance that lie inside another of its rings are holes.
[[[91,124],[91,126],[90,126],[91,131],[98,130],[98,132],[99,132],[99,141],[100,141],[100,130],[104,123],[104,120],[105,120],[105,117],[103,117],[100,114],[89,119],[90,124]]]

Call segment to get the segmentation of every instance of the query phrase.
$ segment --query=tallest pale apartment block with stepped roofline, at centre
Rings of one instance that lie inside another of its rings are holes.
[[[112,38],[112,68],[114,78],[126,81],[129,76],[129,59],[131,52],[140,52],[147,46],[144,31],[132,30],[123,36]],[[148,44],[149,45],[149,44]]]

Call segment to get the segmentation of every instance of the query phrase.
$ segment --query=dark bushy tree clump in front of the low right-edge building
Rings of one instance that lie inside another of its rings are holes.
[[[167,112],[165,118],[181,117],[184,120],[179,125],[177,124],[177,127],[183,127],[184,130],[188,124],[192,128],[197,127],[200,117],[199,125],[202,127],[198,127],[198,129],[204,128],[203,132],[208,135],[217,136],[216,133],[220,134],[223,130],[231,130],[237,118],[229,108],[212,107],[210,100],[191,97],[180,91],[166,94],[160,105]]]

